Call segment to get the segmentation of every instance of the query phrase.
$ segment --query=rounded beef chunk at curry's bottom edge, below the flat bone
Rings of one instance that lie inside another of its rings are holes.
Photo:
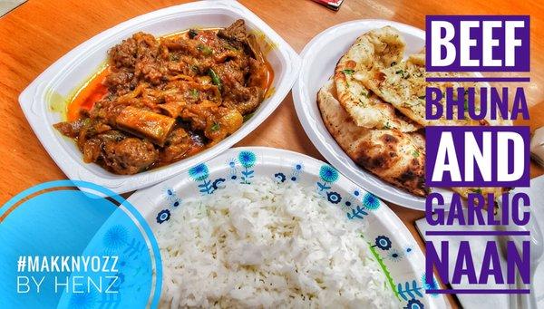
[[[128,138],[104,142],[102,159],[112,172],[132,175],[145,170],[159,157],[159,151],[149,140]]]

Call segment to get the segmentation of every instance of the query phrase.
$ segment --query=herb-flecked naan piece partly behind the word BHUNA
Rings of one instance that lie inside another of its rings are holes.
[[[477,109],[481,106],[480,89],[484,85],[478,82],[425,82],[425,77],[453,77],[453,76],[472,76],[461,72],[431,72],[425,71],[425,53],[416,53],[408,57],[406,61],[394,64],[390,67],[373,67],[369,71],[357,72],[354,78],[362,82],[364,87],[380,96],[384,101],[391,103],[397,110],[401,111],[411,120],[423,125],[444,125],[444,126],[477,126],[477,125],[511,125],[511,121],[485,121],[471,120],[468,111],[461,111],[464,119],[459,119],[458,108],[453,107],[452,120],[446,120],[443,117],[439,120],[428,121],[425,119],[425,88],[436,87],[446,92],[446,88],[453,88],[454,100],[467,100],[468,94],[463,93],[463,98],[459,99],[456,91],[459,87],[474,87],[475,106]],[[442,106],[445,99],[442,98]],[[466,103],[465,103],[466,104]],[[466,108],[465,108],[466,109]]]

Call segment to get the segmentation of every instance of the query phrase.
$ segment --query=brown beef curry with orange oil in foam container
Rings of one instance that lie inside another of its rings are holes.
[[[135,174],[187,158],[238,130],[273,72],[243,20],[112,47],[108,65],[78,92],[67,121],[87,163]]]

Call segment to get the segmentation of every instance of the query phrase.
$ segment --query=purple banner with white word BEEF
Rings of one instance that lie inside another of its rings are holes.
[[[427,72],[529,72],[529,15],[427,15]]]

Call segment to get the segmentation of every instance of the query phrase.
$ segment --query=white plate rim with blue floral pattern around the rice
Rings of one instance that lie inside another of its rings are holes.
[[[213,194],[228,182],[251,183],[257,177],[312,185],[322,198],[342,209],[346,220],[364,224],[368,249],[399,307],[446,307],[442,295],[425,293],[438,284],[435,278],[432,285],[426,283],[423,252],[403,222],[379,198],[318,159],[288,150],[234,148],[172,179],[138,190],[128,200],[155,229],[170,224],[171,212],[183,207],[185,199]]]

